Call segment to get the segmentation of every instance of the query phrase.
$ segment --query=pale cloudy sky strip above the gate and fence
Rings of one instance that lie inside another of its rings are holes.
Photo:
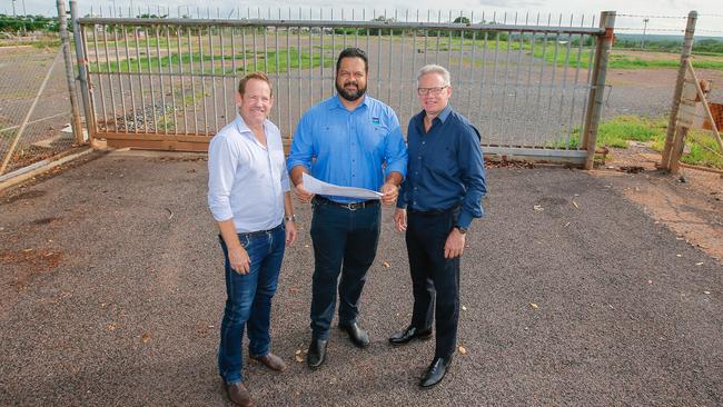
[[[57,8],[56,1],[49,0],[0,0],[0,12],[12,14],[12,4],[14,3],[16,12],[22,13],[24,8],[27,13],[43,16],[56,16]],[[197,4],[202,4],[201,14],[205,17],[207,11],[210,11],[212,17],[218,13],[222,18],[231,16],[236,18],[240,12],[241,17],[247,16],[247,10],[250,9],[250,17],[254,18],[258,11],[258,1],[255,2],[239,2],[229,0],[206,0],[204,2],[190,0],[78,0],[78,6],[81,14],[89,13],[91,4],[93,12],[98,13],[100,8],[103,9],[103,14],[108,16],[110,10],[122,10],[122,16],[128,17],[128,8],[132,3],[136,14],[138,7],[142,3],[142,12],[147,12],[148,6],[152,13],[157,13],[159,7],[161,10],[169,9],[171,17],[176,17],[180,7],[181,13],[186,13],[187,8],[196,17]],[[585,1],[570,1],[570,0],[446,0],[444,2],[445,9],[439,9],[440,2],[438,0],[347,0],[344,1],[344,7],[339,2],[329,0],[267,0],[264,1],[261,8],[261,16],[266,17],[268,8],[271,9],[271,17],[278,18],[279,9],[281,18],[289,18],[289,8],[291,9],[291,19],[298,18],[299,7],[301,8],[304,19],[308,19],[309,9],[315,19],[318,19],[320,10],[324,10],[324,19],[331,19],[331,10],[334,10],[334,19],[340,19],[341,10],[344,9],[344,17],[349,20],[354,10],[355,19],[360,20],[363,10],[365,16],[370,19],[373,10],[376,9],[376,14],[384,14],[386,9],[387,17],[393,17],[395,10],[400,20],[404,20],[407,10],[409,10],[410,19],[416,20],[417,10],[422,21],[426,21],[427,12],[430,10],[433,21],[439,12],[442,12],[443,20],[448,17],[452,11],[453,16],[471,17],[474,10],[474,21],[482,18],[485,13],[486,20],[492,20],[493,13],[496,13],[497,20],[502,20],[504,13],[507,13],[509,22],[517,13],[518,21],[524,20],[525,16],[536,20],[537,13],[541,13],[542,20],[546,20],[547,16],[552,13],[553,21],[558,21],[561,13],[563,21],[570,21],[571,14],[574,16],[575,24],[580,24],[581,17],[585,16],[585,24],[592,21],[593,16],[595,19],[600,16],[601,11],[615,10],[618,14],[616,19],[617,31],[623,32],[641,32],[643,26],[646,26],[647,32],[658,34],[676,34],[681,33],[685,28],[685,16],[691,10],[699,12],[699,20],[696,24],[696,34],[723,37],[723,1],[720,0],[585,0]],[[117,11],[118,13],[118,11]],[[675,18],[671,18],[675,17]],[[647,18],[647,22],[644,20]]]

